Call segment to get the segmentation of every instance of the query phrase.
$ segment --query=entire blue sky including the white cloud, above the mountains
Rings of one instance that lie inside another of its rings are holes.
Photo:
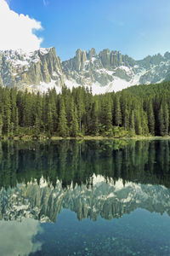
[[[135,60],[170,51],[169,0],[0,0],[0,49],[120,50]]]

